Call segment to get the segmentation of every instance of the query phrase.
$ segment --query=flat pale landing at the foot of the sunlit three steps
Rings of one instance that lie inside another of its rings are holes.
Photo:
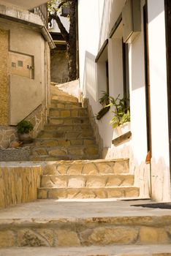
[[[37,200],[0,209],[0,222],[5,219],[85,219],[93,217],[164,217],[171,219],[170,209],[144,208],[132,205],[154,203],[151,200]],[[171,225],[171,222],[170,222]]]

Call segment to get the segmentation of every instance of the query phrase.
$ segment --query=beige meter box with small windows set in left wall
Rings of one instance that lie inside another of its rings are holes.
[[[9,52],[9,74],[34,79],[34,57]]]

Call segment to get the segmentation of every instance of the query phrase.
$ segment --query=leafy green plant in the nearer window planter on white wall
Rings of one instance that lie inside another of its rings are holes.
[[[118,94],[118,97],[115,99],[110,97],[110,104],[106,106],[114,107],[114,110],[112,111],[114,116],[110,120],[110,124],[113,124],[113,128],[130,121],[129,99],[126,99],[126,97],[120,99],[119,96],[120,94]]]

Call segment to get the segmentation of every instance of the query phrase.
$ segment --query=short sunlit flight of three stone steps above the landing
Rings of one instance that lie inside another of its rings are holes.
[[[62,161],[43,168],[38,198],[137,198],[129,159]]]

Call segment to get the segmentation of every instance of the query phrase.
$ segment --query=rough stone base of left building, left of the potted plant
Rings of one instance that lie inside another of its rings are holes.
[[[0,148],[8,148],[12,140],[18,140],[15,127],[0,127]]]

